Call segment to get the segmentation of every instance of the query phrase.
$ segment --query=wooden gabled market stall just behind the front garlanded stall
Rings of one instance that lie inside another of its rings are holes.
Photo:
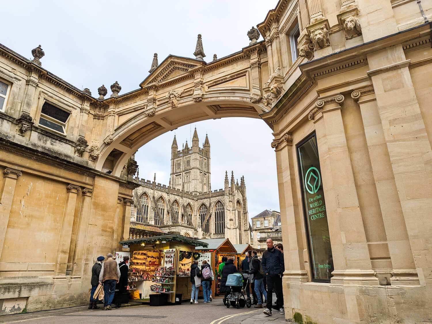
[[[210,253],[211,266],[213,269],[213,273],[215,274],[215,285],[212,286],[212,292],[214,292],[215,295],[219,295],[219,286],[220,286],[220,273],[218,271],[219,264],[222,263],[223,256],[233,257],[234,264],[237,267],[237,263],[238,263],[237,250],[234,248],[234,245],[232,245],[232,243],[229,241],[229,238],[211,238],[211,239],[204,239],[199,241],[202,242],[202,245],[195,247],[195,251],[203,255]],[[202,256],[200,259],[202,264],[202,260],[204,260],[204,257]],[[205,259],[209,260],[208,258]],[[198,264],[200,264],[200,261],[198,261]]]

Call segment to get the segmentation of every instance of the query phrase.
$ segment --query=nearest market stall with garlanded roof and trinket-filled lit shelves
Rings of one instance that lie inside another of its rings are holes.
[[[140,299],[134,302],[149,302],[149,295],[158,293],[167,294],[168,302],[172,303],[176,294],[183,294],[185,300],[190,298],[192,285],[187,273],[190,265],[188,268],[187,262],[183,262],[180,268],[179,259],[181,256],[181,261],[186,261],[184,253],[193,253],[202,242],[182,235],[162,235],[119,243],[130,248],[130,289],[140,293]]]

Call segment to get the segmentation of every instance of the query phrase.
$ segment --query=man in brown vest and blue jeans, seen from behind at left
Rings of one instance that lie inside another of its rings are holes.
[[[120,279],[120,268],[117,261],[113,259],[112,253],[107,254],[107,259],[102,264],[99,274],[99,283],[104,284],[104,311],[111,311],[111,303],[114,299],[115,284]]]

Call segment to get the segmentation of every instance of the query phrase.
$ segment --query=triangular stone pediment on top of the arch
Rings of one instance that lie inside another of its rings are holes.
[[[195,60],[188,57],[168,55],[165,60],[149,76],[141,82],[140,86],[151,83],[165,83],[166,81],[187,76],[188,71],[194,67],[205,64],[202,60]]]

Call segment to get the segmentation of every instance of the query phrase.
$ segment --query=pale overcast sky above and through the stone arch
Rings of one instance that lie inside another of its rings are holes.
[[[218,1],[3,1],[0,42],[32,58],[42,45],[42,67],[79,89],[118,81],[120,94],[139,88],[153,53],[194,57],[202,35],[204,60],[248,46],[251,26],[262,22],[276,0]],[[18,20],[19,19],[19,23]],[[262,37],[260,38],[262,40]],[[137,153],[140,178],[168,184],[174,133],[181,147],[197,127],[200,145],[208,133],[212,190],[223,188],[225,170],[245,176],[249,216],[279,210],[276,159],[270,128],[259,119],[222,118],[179,127],[150,141]],[[240,181],[240,180],[239,180]]]

